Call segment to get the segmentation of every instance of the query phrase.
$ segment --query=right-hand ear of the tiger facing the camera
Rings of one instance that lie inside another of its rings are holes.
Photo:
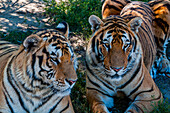
[[[128,26],[131,28],[132,31],[138,33],[138,29],[142,23],[143,23],[142,18],[136,17],[128,22]]]

